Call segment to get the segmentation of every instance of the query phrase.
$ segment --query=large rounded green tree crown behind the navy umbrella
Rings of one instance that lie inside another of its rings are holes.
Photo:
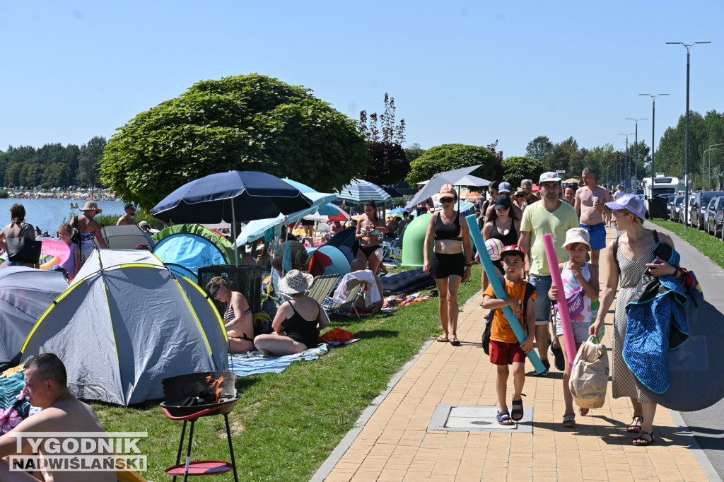
[[[151,208],[214,172],[267,172],[329,192],[368,167],[352,119],[311,90],[251,74],[195,83],[141,112],[109,140],[101,172],[122,198]]]

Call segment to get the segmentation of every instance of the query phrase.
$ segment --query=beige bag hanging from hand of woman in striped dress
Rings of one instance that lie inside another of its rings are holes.
[[[581,408],[600,408],[606,400],[608,387],[608,354],[603,344],[593,342],[593,337],[581,343],[571,368],[573,402]]]

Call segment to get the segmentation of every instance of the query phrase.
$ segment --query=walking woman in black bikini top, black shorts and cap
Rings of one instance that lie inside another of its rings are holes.
[[[442,211],[432,213],[427,224],[422,270],[431,275],[437,284],[439,314],[442,336],[438,342],[450,342],[460,346],[458,339],[458,289],[460,282],[470,279],[471,243],[468,224],[460,222],[460,213],[455,211],[458,195],[452,185],[440,188],[439,200]],[[435,247],[430,256],[430,245],[434,238]],[[448,334],[450,338],[448,339]]]

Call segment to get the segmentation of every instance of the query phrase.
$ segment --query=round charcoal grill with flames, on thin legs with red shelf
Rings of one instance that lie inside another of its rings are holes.
[[[173,475],[175,482],[180,475],[183,475],[183,480],[186,481],[189,475],[215,475],[234,470],[234,480],[238,482],[228,415],[240,398],[236,392],[236,373],[230,371],[189,373],[163,379],[161,384],[164,389],[164,402],[161,403],[161,409],[171,420],[183,420],[176,465],[167,468],[166,473]],[[194,423],[201,417],[211,415],[224,415],[231,463],[220,460],[191,461]],[[180,463],[181,452],[186,438],[186,424],[189,421],[191,426],[186,449],[186,462],[182,464]]]

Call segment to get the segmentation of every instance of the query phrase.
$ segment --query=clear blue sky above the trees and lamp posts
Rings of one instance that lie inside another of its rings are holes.
[[[0,148],[110,138],[198,80],[260,74],[358,119],[395,98],[406,145],[522,156],[538,135],[651,142],[724,110],[724,2],[33,1],[0,3]]]

